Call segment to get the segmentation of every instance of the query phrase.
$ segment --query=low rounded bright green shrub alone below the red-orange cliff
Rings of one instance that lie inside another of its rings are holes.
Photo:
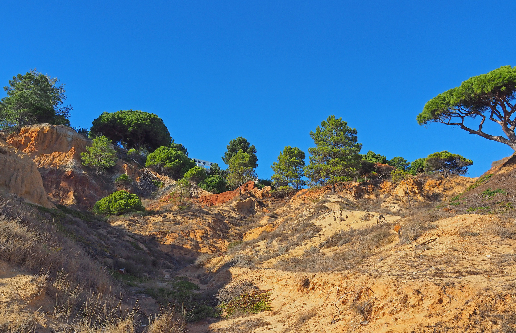
[[[97,214],[124,214],[132,211],[144,211],[138,195],[127,191],[116,191],[105,198],[100,199],[93,206],[93,212]]]

